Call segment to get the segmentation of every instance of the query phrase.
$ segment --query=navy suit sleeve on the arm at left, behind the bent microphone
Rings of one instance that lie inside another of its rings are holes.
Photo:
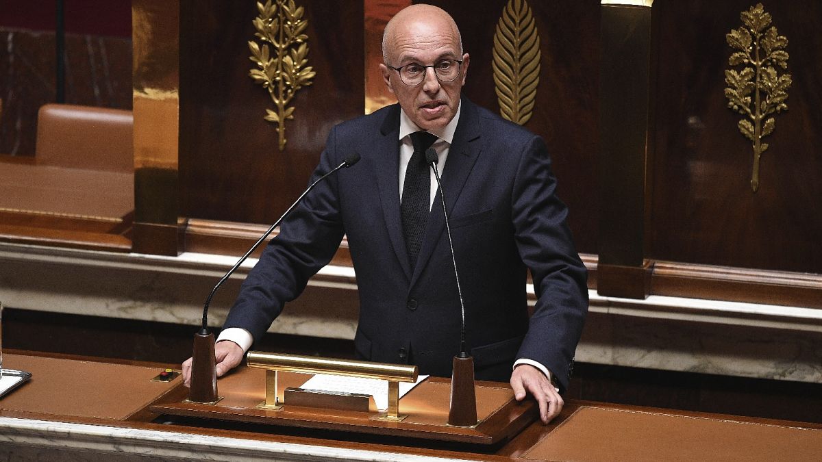
[[[339,165],[337,157],[332,130],[309,184]],[[241,327],[260,340],[284,304],[297,298],[312,275],[331,261],[344,234],[337,180],[335,174],[318,183],[283,220],[279,234],[242,283],[224,328]]]

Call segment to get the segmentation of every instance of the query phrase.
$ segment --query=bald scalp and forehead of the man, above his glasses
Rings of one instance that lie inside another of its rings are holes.
[[[462,54],[462,36],[454,18],[440,7],[420,3],[403,8],[386,24],[386,30],[382,33],[382,62],[397,66],[393,62],[397,58],[397,47],[406,37],[421,29],[454,40],[459,54]]]

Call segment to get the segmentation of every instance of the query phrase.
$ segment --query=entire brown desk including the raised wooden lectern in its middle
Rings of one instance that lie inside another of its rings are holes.
[[[535,420],[533,402],[518,404],[506,384],[492,382],[478,382],[481,422],[463,428],[446,425],[447,379],[429,377],[419,384],[400,400],[400,410],[409,417],[391,423],[371,420],[376,409],[332,413],[299,409],[287,401],[280,411],[255,409],[265,394],[266,371],[261,369],[241,368],[221,378],[224,400],[206,405],[182,402],[187,388],[180,377],[154,380],[168,364],[6,352],[3,365],[32,373],[30,381],[0,399],[3,460],[20,460],[21,454],[32,454],[32,447],[42,460],[88,459],[90,454],[110,459],[121,453],[165,460],[246,456],[393,462],[422,455],[496,462],[651,462],[819,460],[822,454],[819,423],[568,400],[561,414],[543,425]],[[284,386],[299,386],[307,376],[282,378]],[[169,419],[169,414],[193,419]],[[238,425],[241,421],[252,425]],[[492,441],[499,443],[487,444]]]

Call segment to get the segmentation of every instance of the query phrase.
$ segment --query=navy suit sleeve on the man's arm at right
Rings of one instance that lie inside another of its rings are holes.
[[[512,202],[517,248],[537,295],[517,358],[542,363],[566,390],[588,312],[588,275],[566,221],[568,209],[556,197],[550,156],[538,136],[531,137],[520,156]]]

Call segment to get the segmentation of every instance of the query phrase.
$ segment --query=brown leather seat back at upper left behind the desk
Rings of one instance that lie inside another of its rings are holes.
[[[132,111],[44,104],[37,116],[39,164],[72,169],[134,171]]]

